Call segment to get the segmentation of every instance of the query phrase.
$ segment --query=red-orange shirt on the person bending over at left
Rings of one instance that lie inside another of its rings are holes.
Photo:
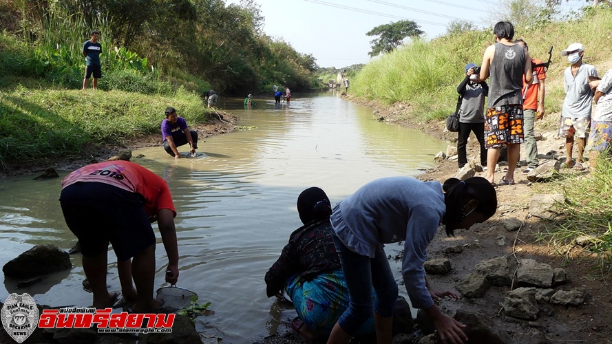
[[[146,200],[147,215],[156,215],[160,209],[170,209],[176,216],[166,181],[134,162],[117,160],[83,166],[62,180],[62,189],[76,182],[101,182],[140,193]]]

